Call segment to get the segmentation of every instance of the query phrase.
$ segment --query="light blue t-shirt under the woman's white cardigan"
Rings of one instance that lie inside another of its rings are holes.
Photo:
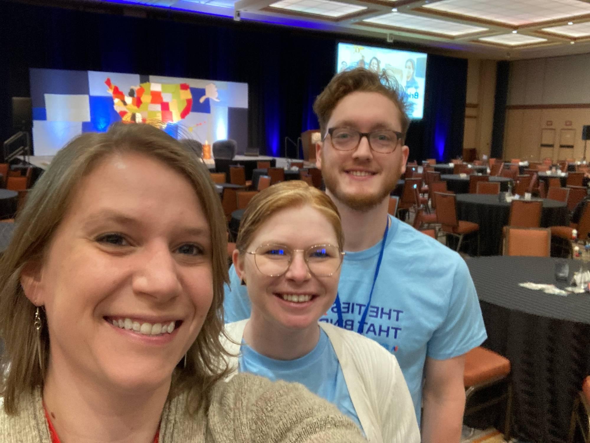
[[[259,354],[242,341],[238,357],[240,372],[250,372],[267,379],[285,380],[304,385],[316,395],[333,403],[342,414],[349,416],[363,429],[350,400],[342,367],[330,339],[320,328],[320,339],[316,347],[303,357],[295,360],[275,360]]]

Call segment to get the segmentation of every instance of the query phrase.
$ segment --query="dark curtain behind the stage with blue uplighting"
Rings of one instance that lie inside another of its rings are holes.
[[[313,100],[332,78],[343,40],[199,15],[172,21],[2,2],[0,16],[7,18],[0,25],[0,141],[12,135],[11,97],[30,95],[29,68],[93,70],[248,83],[248,147],[283,156],[285,137],[318,127]],[[425,117],[407,137],[412,159],[430,157],[440,134],[437,158],[461,152],[466,72],[465,60],[429,55]]]

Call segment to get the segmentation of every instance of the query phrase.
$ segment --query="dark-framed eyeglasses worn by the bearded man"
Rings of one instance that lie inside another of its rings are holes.
[[[389,154],[394,152],[404,134],[391,129],[379,129],[372,132],[359,132],[350,127],[331,127],[328,134],[332,146],[340,151],[352,151],[360,145],[360,139],[367,137],[369,147],[375,152]]]

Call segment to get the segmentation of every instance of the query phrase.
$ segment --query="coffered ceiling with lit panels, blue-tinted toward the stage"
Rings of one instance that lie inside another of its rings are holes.
[[[590,52],[590,0],[74,0],[345,32],[468,57]]]

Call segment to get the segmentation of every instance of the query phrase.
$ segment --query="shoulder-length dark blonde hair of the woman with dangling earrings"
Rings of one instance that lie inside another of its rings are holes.
[[[71,203],[74,189],[101,159],[117,153],[140,153],[181,173],[193,186],[209,224],[212,244],[213,300],[201,332],[172,376],[169,398],[187,392],[187,411],[195,414],[209,402],[212,386],[224,378],[225,351],[219,342],[223,327],[227,273],[227,231],[221,202],[207,168],[194,152],[147,124],[117,123],[106,133],[86,133],[71,140],[30,192],[17,219],[12,240],[0,258],[0,336],[4,340],[0,395],[6,414],[18,414],[19,396],[42,387],[44,374],[37,358],[36,307],[21,287],[25,265],[41,262]],[[105,178],[108,179],[108,178]],[[42,311],[42,310],[41,310]],[[44,317],[44,316],[42,316]],[[43,324],[47,324],[45,318]],[[47,367],[47,327],[41,332],[41,358]]]

